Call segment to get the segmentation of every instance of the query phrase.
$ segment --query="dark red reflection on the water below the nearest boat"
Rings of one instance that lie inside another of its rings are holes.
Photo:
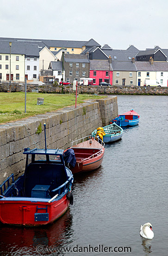
[[[37,245],[63,246],[73,241],[73,217],[68,210],[56,222],[44,227],[15,227],[2,225],[0,255],[37,255]],[[23,254],[24,253],[24,254]],[[45,255],[46,251],[44,252]],[[41,253],[42,254],[42,253]]]

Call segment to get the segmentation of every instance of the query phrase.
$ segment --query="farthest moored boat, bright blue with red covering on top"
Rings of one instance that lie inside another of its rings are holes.
[[[124,127],[124,126],[135,126],[139,123],[139,115],[133,109],[112,120],[113,123]]]

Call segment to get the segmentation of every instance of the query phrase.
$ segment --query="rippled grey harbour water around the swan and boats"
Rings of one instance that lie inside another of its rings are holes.
[[[139,125],[124,129],[122,140],[106,145],[98,170],[75,177],[75,203],[70,210],[46,227],[2,225],[0,256],[168,255],[168,96],[119,95],[119,113],[131,109],[140,115]],[[146,222],[152,223],[152,240],[139,235]],[[39,244],[44,250],[38,253]],[[90,253],[57,253],[54,249],[89,245],[131,247],[131,252],[92,252],[91,248]]]

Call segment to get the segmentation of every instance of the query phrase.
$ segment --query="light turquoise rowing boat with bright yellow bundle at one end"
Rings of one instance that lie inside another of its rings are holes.
[[[99,127],[92,132],[93,135],[100,137],[105,142],[118,141],[123,136],[123,129],[117,124],[112,123],[105,127]]]

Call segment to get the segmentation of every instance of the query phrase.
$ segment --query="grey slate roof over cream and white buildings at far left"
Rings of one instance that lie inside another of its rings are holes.
[[[0,53],[9,54],[10,41],[0,40]],[[25,42],[12,41],[11,54],[25,54],[25,56],[36,56],[39,57],[39,50],[36,44],[29,44]]]

